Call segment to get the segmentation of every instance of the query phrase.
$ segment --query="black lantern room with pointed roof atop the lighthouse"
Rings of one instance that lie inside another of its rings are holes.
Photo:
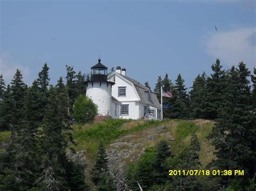
[[[91,67],[91,81],[92,82],[106,82],[107,81],[107,67],[100,63],[100,59],[98,59],[98,63]]]

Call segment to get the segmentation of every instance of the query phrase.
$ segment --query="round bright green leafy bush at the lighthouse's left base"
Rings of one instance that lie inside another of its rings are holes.
[[[98,114],[98,106],[89,97],[79,95],[74,103],[73,118],[78,123],[92,122]]]

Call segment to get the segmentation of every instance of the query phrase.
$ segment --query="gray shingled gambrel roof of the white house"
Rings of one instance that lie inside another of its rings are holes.
[[[122,74],[121,74],[122,75]],[[151,93],[151,101],[147,99],[147,92],[150,91],[149,88],[143,86],[142,83],[139,83],[137,80],[134,80],[130,77],[122,75],[125,79],[129,80],[134,84],[135,89],[137,90],[137,93],[139,94],[139,98],[141,101],[143,101],[146,104],[150,104],[153,107],[156,107],[158,109],[161,109],[161,105],[159,101],[157,100],[157,96],[154,93]]]

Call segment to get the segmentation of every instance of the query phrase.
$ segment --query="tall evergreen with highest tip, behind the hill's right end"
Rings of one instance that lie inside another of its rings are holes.
[[[221,69],[219,59],[212,65],[213,74],[206,81],[205,117],[217,118],[218,109],[223,107],[224,89],[226,87],[225,70]]]

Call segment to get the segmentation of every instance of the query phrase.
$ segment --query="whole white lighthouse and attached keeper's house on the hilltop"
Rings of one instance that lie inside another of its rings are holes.
[[[161,106],[154,94],[142,83],[126,75],[126,69],[117,67],[111,74],[98,59],[85,75],[86,96],[98,105],[102,118],[140,119],[152,116],[161,119]],[[146,115],[147,114],[147,115]]]

